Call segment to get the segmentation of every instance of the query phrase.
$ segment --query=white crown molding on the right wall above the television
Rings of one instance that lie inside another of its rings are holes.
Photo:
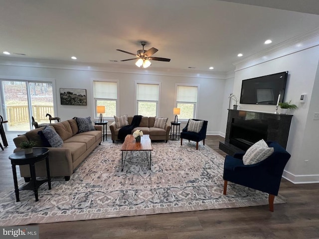
[[[316,47],[318,45],[319,27],[312,31],[299,34],[298,36],[290,38],[282,43],[276,44],[271,48],[250,55],[240,61],[236,61],[233,65],[236,67],[235,71],[239,71],[279,57]]]

